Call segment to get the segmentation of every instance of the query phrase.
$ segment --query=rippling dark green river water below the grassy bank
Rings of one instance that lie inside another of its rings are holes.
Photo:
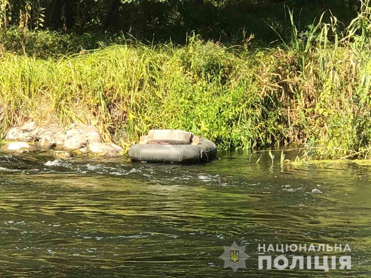
[[[0,277],[371,277],[370,166],[258,157],[177,165],[0,154]],[[235,273],[219,258],[234,241],[250,256]],[[259,270],[259,255],[351,255],[352,267]]]

